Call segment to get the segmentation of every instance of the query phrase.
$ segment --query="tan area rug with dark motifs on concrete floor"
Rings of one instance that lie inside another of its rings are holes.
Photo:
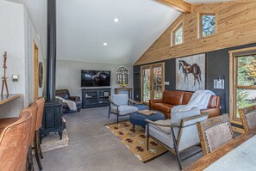
[[[145,129],[136,125],[133,131],[133,125],[129,121],[120,122],[119,125],[105,125],[112,133],[118,137],[122,144],[131,150],[141,162],[149,162],[150,160],[163,155],[167,150],[164,146],[149,138],[149,150],[147,151],[147,136]]]

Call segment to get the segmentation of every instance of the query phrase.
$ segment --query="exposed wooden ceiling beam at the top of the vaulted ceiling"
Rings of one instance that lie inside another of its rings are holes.
[[[164,3],[165,5],[171,6],[174,9],[178,9],[183,13],[191,13],[191,4],[184,2],[184,0],[157,0],[159,3]]]

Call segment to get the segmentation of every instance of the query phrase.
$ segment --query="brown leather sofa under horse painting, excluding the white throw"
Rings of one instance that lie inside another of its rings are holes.
[[[188,104],[192,95],[184,91],[164,91],[162,99],[149,101],[149,109],[160,111],[165,114],[165,119],[170,119],[172,107]],[[212,95],[207,109],[201,110],[201,114],[209,113],[209,118],[220,115],[220,102],[220,96]]]

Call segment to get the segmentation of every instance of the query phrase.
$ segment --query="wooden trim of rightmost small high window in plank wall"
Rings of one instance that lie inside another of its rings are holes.
[[[215,15],[215,34],[209,34],[207,36],[203,36],[203,15]],[[197,19],[198,21],[197,38],[198,39],[205,39],[218,34],[218,20],[217,20],[218,15],[216,13],[198,13],[197,17],[198,17]]]

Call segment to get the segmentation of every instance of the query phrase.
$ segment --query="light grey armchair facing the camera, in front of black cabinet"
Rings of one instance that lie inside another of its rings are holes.
[[[110,113],[116,114],[117,125],[120,116],[127,116],[138,111],[138,107],[136,107],[138,103],[130,100],[128,95],[111,95],[109,96],[109,102],[109,115]]]

